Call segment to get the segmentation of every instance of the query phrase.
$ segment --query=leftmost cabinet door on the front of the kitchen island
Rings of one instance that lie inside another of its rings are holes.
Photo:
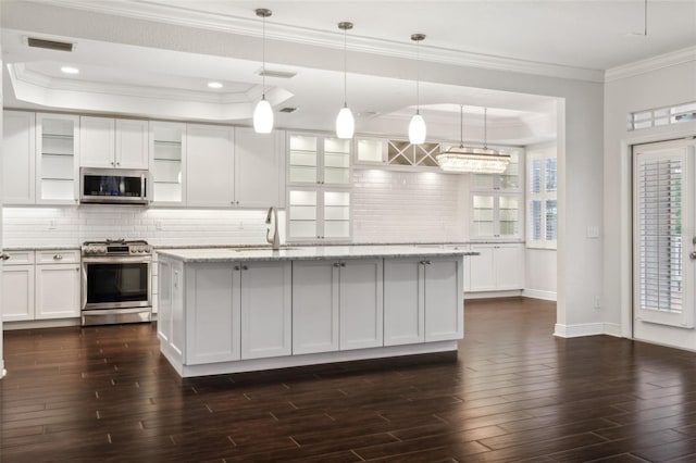
[[[240,359],[240,277],[231,263],[187,265],[185,364]],[[176,320],[173,323],[177,325]]]

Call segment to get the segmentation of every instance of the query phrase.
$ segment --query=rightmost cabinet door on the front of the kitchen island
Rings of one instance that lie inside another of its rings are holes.
[[[461,339],[464,334],[463,259],[427,259],[425,341]]]

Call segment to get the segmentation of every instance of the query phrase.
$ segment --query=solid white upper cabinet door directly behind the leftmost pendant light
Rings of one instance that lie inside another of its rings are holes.
[[[285,208],[285,132],[235,128],[235,202],[245,208]]]

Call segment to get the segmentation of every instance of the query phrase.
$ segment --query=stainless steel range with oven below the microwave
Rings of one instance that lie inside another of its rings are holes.
[[[83,325],[152,320],[152,247],[147,241],[85,241],[82,254]]]

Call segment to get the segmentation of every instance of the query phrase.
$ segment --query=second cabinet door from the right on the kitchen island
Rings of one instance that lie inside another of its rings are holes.
[[[384,345],[425,340],[425,268],[422,259],[384,261]]]

